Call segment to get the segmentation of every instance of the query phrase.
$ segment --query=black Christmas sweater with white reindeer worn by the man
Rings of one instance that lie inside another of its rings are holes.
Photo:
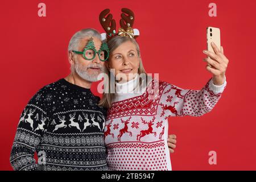
[[[10,156],[14,170],[108,169],[106,109],[99,100],[64,78],[40,89],[20,115]]]

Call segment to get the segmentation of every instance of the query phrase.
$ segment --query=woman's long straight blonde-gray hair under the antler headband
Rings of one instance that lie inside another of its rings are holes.
[[[142,73],[144,73],[146,75],[147,73],[146,73],[146,71],[145,71],[145,69],[143,67],[142,60],[141,60],[141,51],[139,50],[139,44],[136,42],[135,39],[129,38],[127,36],[114,36],[114,38],[110,39],[107,42],[108,46],[109,46],[110,55],[118,46],[120,46],[121,44],[123,44],[123,43],[125,43],[127,41],[130,41],[136,47],[136,50],[137,50],[137,53],[138,53],[138,56],[139,56],[138,74],[141,75]],[[107,60],[107,61],[109,61],[109,60]],[[112,88],[112,90],[113,90],[113,86],[115,86],[115,84],[111,83],[111,81],[110,81],[110,74],[112,74],[112,73],[110,73],[110,71],[108,69],[105,69],[105,73],[108,75],[108,77],[104,78],[104,80],[105,79],[109,79],[106,82],[107,84],[109,84],[108,88],[107,88],[108,89],[108,93],[103,93],[102,99],[100,100],[98,105],[106,107],[106,108],[109,108],[109,107],[111,107],[112,101],[113,101],[114,96],[115,96],[115,93],[111,93],[110,89]],[[141,80],[139,81],[139,84],[141,84]]]

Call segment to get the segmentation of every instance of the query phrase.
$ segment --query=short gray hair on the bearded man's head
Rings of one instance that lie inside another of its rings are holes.
[[[72,38],[68,44],[68,51],[72,51],[72,50],[78,51],[77,49],[79,48],[79,43],[80,43],[81,39],[84,39],[86,37],[88,37],[88,38],[96,37],[101,40],[100,32],[98,32],[97,30],[95,30],[93,28],[85,28],[85,29],[82,29],[82,30],[76,32],[76,34],[74,34],[72,36]]]

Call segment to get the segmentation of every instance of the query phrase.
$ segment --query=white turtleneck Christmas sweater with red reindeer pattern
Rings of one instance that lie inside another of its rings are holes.
[[[104,130],[109,169],[171,170],[167,118],[208,113],[220,99],[226,79],[217,86],[211,78],[201,90],[181,89],[153,79],[137,92],[138,80],[137,76],[125,84],[116,83],[117,93]]]

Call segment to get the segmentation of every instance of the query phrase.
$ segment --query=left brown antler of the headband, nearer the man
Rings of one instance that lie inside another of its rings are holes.
[[[109,14],[109,12],[110,12],[109,9],[105,9],[105,10],[101,11],[100,16],[99,16],[101,26],[106,31],[107,39],[109,39],[110,37],[113,36],[113,34],[115,34],[115,20],[112,19],[113,15]],[[109,14],[109,15],[106,16],[107,14]]]

